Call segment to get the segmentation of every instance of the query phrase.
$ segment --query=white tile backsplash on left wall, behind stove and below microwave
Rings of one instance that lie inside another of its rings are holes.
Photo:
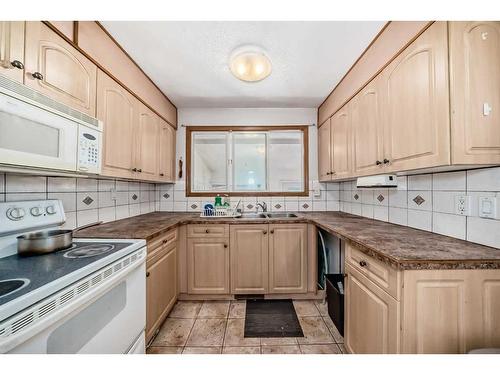
[[[0,173],[0,202],[60,199],[64,228],[113,221],[155,211],[155,184],[95,178],[44,177]]]

